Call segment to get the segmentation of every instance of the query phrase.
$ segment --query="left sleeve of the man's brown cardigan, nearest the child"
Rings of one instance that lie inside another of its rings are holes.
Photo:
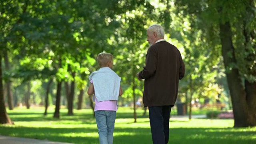
[[[153,47],[148,48],[148,52],[146,54],[146,66],[144,66],[143,70],[140,71],[139,77],[142,79],[147,79],[153,76],[156,72],[157,65],[157,54]]]

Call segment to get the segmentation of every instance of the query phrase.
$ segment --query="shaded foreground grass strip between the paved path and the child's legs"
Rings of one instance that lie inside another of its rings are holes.
[[[98,137],[88,137],[88,133],[98,133],[97,128],[29,128],[29,127],[0,127],[0,135],[33,138],[39,140],[50,140],[58,142],[70,142],[86,144],[98,142]],[[83,136],[77,136],[82,134]]]

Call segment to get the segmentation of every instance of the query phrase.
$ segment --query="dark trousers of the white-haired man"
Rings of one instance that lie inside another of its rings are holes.
[[[148,107],[153,144],[168,144],[172,106]]]

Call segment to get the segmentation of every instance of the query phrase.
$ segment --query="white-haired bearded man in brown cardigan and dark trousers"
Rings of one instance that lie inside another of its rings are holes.
[[[137,77],[145,80],[143,103],[148,106],[153,143],[167,144],[170,112],[177,99],[179,80],[185,74],[185,64],[176,46],[164,40],[161,25],[148,28],[147,41],[150,47],[146,65]]]

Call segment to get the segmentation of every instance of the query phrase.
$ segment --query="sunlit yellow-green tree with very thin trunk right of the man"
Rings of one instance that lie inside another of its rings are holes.
[[[159,0],[153,3],[158,6],[154,13],[156,21],[165,29],[166,40],[180,50],[186,64],[186,76],[180,80],[177,101],[190,106],[191,119],[192,98],[212,97],[203,94],[213,95],[214,90],[220,90],[215,80],[216,67],[220,62],[219,54],[215,53],[216,46],[211,42],[207,42],[207,46],[203,43],[207,40],[207,35],[203,30],[199,30],[199,25],[193,23],[195,16],[182,15],[183,11],[170,1]],[[212,92],[206,92],[208,89],[212,89]]]

